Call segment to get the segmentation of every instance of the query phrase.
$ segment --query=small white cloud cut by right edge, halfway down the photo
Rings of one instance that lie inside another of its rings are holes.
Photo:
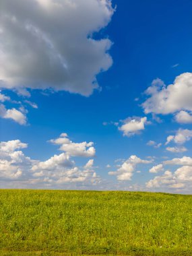
[[[189,129],[179,129],[176,132],[176,135],[169,135],[166,139],[165,145],[170,143],[170,141],[174,141],[177,144],[183,144],[186,141],[189,141],[192,137],[192,130]]]

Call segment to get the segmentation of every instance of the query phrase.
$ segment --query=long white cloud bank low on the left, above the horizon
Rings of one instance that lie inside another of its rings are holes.
[[[39,185],[57,187],[64,183],[82,183],[96,185],[100,177],[89,160],[84,168],[75,166],[67,153],[55,154],[48,160],[32,160],[21,151],[27,148],[19,139],[0,142],[0,178],[1,181],[18,181],[20,186]]]

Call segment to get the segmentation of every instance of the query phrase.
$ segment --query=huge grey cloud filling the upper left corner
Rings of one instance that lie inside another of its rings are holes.
[[[110,0],[2,0],[1,88],[92,94],[96,75],[113,63],[112,42],[94,33],[114,11]]]

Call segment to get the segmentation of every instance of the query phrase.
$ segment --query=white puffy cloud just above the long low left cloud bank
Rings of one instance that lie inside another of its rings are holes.
[[[61,133],[59,138],[51,139],[50,142],[59,145],[59,150],[66,152],[69,156],[93,157],[96,154],[93,142],[74,143],[69,140],[67,133]]]

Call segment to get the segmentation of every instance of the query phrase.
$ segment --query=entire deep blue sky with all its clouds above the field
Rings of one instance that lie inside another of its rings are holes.
[[[0,5],[0,188],[192,193],[191,1]]]

